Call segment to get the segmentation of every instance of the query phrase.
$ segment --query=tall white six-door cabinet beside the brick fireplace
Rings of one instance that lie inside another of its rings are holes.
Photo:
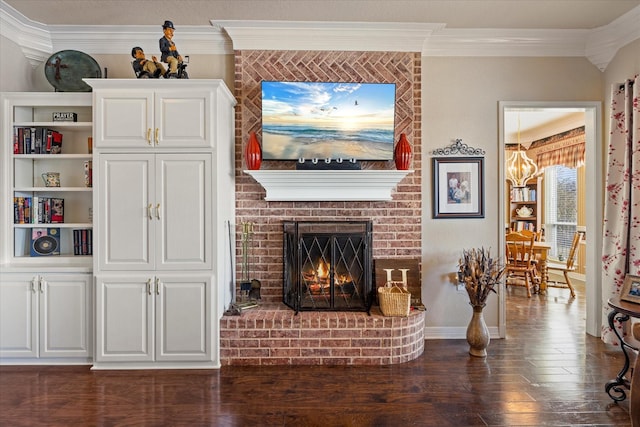
[[[87,82],[94,369],[219,367],[235,253],[235,100],[220,80]]]

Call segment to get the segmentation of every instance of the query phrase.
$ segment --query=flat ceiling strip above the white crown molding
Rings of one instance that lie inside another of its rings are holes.
[[[161,25],[211,20],[442,23],[447,28],[592,29],[640,0],[3,0],[47,25]]]

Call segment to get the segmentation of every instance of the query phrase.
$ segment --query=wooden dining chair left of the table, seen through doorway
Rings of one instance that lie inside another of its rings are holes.
[[[540,282],[534,262],[534,240],[535,236],[525,236],[519,232],[511,232],[505,238],[507,249],[505,285],[524,286],[529,298],[531,298],[531,289]]]

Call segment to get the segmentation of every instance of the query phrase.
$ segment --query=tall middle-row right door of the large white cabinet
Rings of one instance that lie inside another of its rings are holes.
[[[158,154],[154,182],[156,268],[210,269],[211,155]]]

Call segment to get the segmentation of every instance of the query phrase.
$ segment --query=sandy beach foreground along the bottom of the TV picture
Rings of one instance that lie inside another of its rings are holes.
[[[282,159],[381,159],[393,158],[393,144],[382,142],[359,142],[324,140],[278,135],[263,130],[262,158]],[[265,141],[268,143],[265,144]],[[266,148],[268,147],[268,149]]]

